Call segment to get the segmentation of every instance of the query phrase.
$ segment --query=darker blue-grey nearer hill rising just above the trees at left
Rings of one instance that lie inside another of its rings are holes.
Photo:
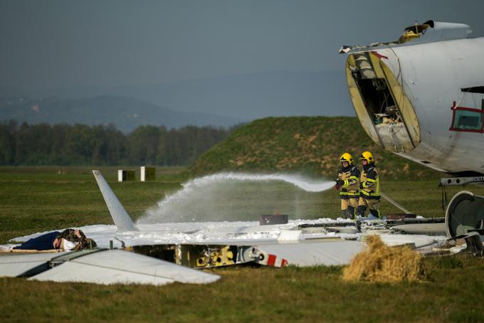
[[[229,127],[244,121],[198,112],[175,112],[133,97],[107,95],[78,100],[4,98],[0,100],[0,120],[31,124],[112,124],[123,132],[130,132],[140,125]]]

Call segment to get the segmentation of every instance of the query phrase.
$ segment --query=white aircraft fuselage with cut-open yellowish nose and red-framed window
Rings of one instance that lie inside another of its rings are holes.
[[[346,67],[375,142],[449,174],[484,174],[484,38],[356,48]]]

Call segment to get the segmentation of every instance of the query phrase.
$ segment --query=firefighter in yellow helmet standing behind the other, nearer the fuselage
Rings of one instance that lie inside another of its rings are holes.
[[[359,201],[357,216],[364,217],[365,211],[369,208],[369,218],[382,218],[379,208],[380,203],[380,180],[377,167],[371,152],[363,152],[359,157],[363,164],[363,171],[359,177]]]

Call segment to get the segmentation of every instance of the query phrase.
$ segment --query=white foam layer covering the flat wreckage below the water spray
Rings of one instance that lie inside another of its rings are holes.
[[[343,234],[343,233],[300,233],[295,229],[302,224],[317,225],[349,222],[341,218],[318,218],[316,220],[293,220],[286,224],[259,226],[256,221],[236,221],[236,222],[194,222],[194,223],[156,223],[140,224],[139,231],[117,233],[116,226],[113,225],[94,225],[78,227],[88,238],[92,238],[100,248],[109,248],[110,240],[113,241],[115,248],[125,245],[153,245],[153,244],[243,244],[261,245],[264,243],[280,243],[305,239],[317,238],[343,238],[354,240],[367,233]],[[63,231],[58,229],[57,231]],[[292,232],[294,232],[294,235]],[[24,235],[12,240],[23,242],[30,238],[36,238],[46,232]],[[377,232],[371,232],[374,234]],[[295,237],[298,235],[298,239]],[[384,235],[384,240],[389,245],[401,243],[415,243],[416,245],[426,245],[427,239],[436,242],[445,242],[445,236],[424,236],[424,235]],[[283,241],[285,240],[285,241]],[[422,243],[425,242],[425,243]]]

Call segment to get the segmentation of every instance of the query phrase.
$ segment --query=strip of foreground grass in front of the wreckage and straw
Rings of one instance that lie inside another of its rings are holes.
[[[343,282],[338,267],[219,268],[214,284],[162,287],[0,278],[0,310],[3,322],[482,322],[482,260],[458,261],[427,259],[431,280],[400,284]]]

